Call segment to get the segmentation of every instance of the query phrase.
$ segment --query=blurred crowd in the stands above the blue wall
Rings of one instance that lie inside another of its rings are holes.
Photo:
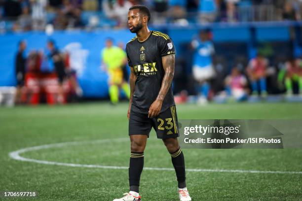
[[[134,4],[153,24],[300,20],[302,0],[0,0],[0,31],[123,28]]]

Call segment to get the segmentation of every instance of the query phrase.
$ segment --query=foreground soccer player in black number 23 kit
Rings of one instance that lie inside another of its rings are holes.
[[[149,9],[143,5],[134,5],[128,12],[129,30],[136,33],[126,45],[131,69],[131,95],[127,113],[131,141],[130,192],[114,201],[141,201],[139,185],[144,150],[152,127],[171,154],[180,200],[191,201],[186,188],[184,154],[177,140],[178,121],[171,88],[175,49],[168,35],[149,30],[150,17]]]

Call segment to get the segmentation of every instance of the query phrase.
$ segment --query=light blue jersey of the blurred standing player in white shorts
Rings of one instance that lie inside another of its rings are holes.
[[[209,67],[212,66],[212,55],[214,54],[214,46],[211,41],[201,41],[195,39],[192,41],[195,48],[193,66]]]

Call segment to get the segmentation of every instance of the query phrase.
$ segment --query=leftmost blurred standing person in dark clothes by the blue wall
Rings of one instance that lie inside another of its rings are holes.
[[[26,49],[26,42],[22,40],[19,42],[18,45],[18,52],[15,58],[15,73],[16,73],[16,80],[17,80],[17,91],[16,91],[16,103],[21,103],[21,91],[22,87],[24,86],[25,81],[25,72],[26,72],[26,57],[25,51]]]

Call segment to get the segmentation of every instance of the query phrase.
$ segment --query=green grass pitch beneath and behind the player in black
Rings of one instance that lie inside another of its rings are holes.
[[[178,105],[179,119],[301,119],[301,103]],[[37,198],[0,200],[112,201],[128,192],[128,170],[69,167],[11,159],[26,147],[77,141],[32,150],[22,157],[57,163],[127,167],[127,104],[0,108],[0,192],[36,191]],[[121,138],[121,139],[119,139]],[[102,139],[112,139],[102,141]],[[116,140],[117,139],[117,140]],[[302,171],[302,149],[185,149],[187,168]],[[145,167],[173,167],[155,133]],[[193,201],[302,201],[302,174],[187,172]],[[178,201],[174,171],[144,170],[142,201]]]

